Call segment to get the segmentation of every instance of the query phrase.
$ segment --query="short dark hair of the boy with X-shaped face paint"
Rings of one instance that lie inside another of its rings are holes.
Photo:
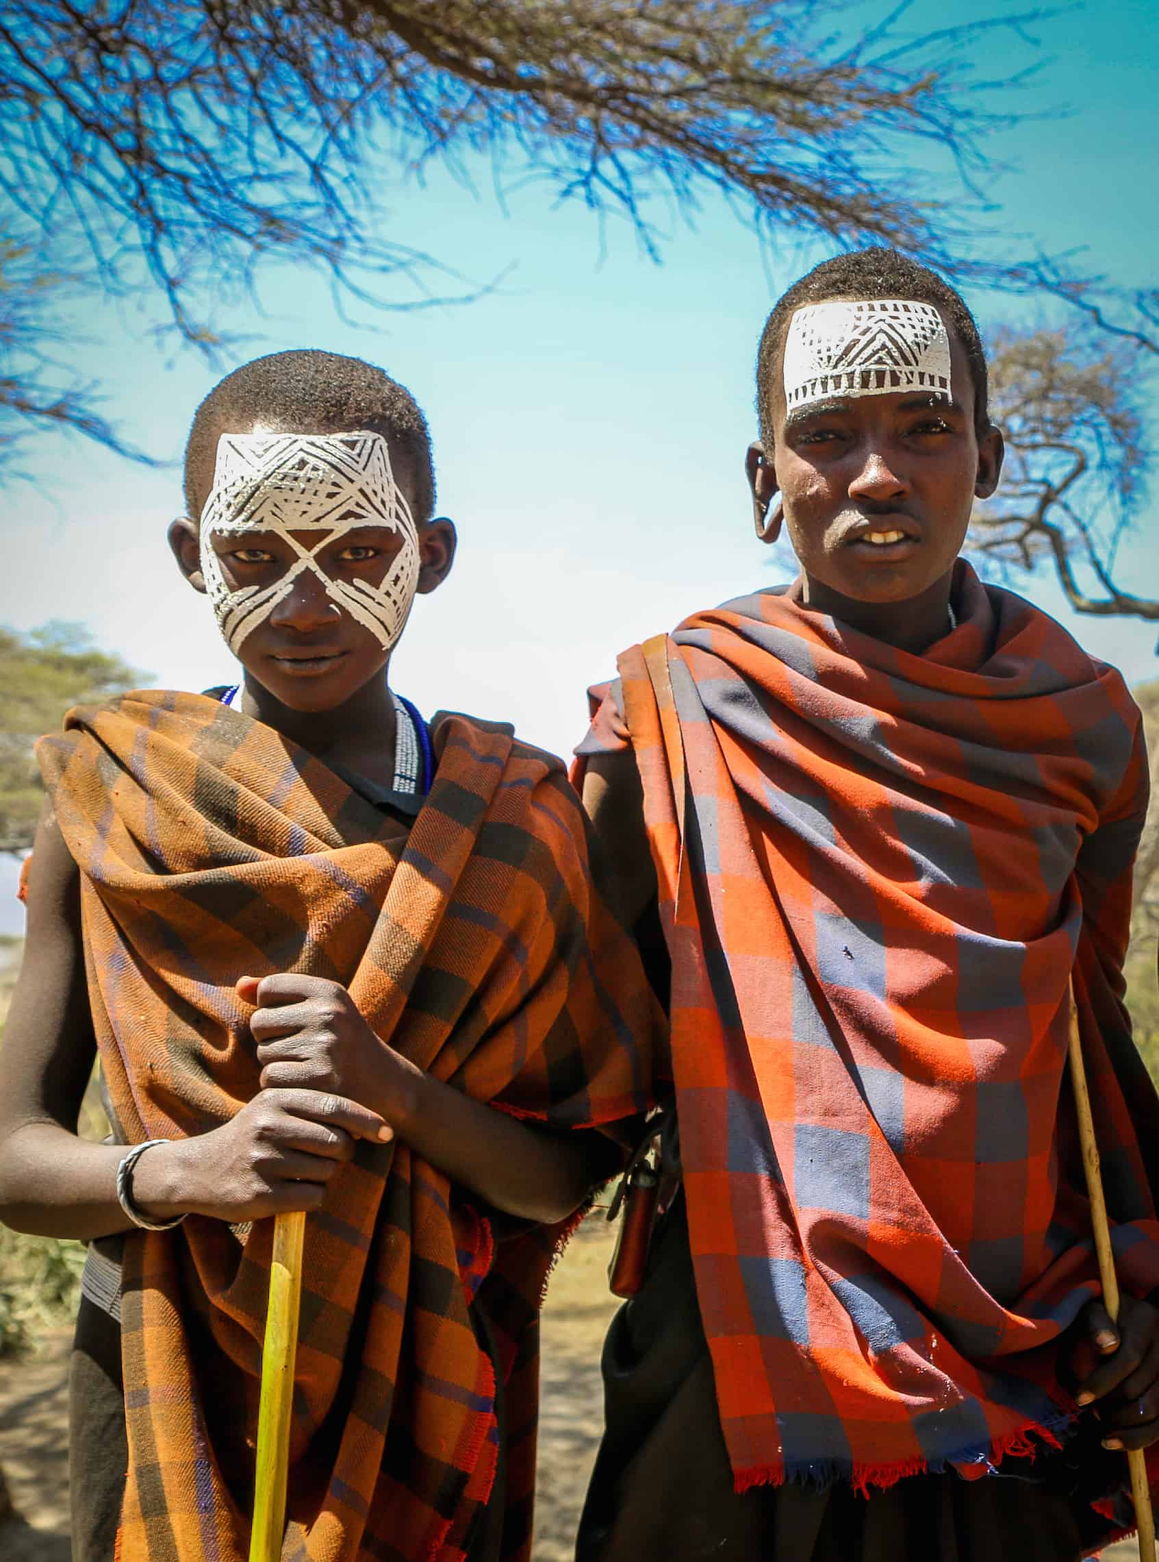
[[[406,386],[374,364],[343,353],[296,347],[242,364],[214,386],[193,414],[186,440],[186,508],[200,520],[206,494],[198,478],[214,470],[220,434],[261,422],[301,433],[382,434],[393,456],[404,456],[415,481],[415,520],[435,512],[435,467],[423,409]],[[204,480],[203,480],[204,481]]]

